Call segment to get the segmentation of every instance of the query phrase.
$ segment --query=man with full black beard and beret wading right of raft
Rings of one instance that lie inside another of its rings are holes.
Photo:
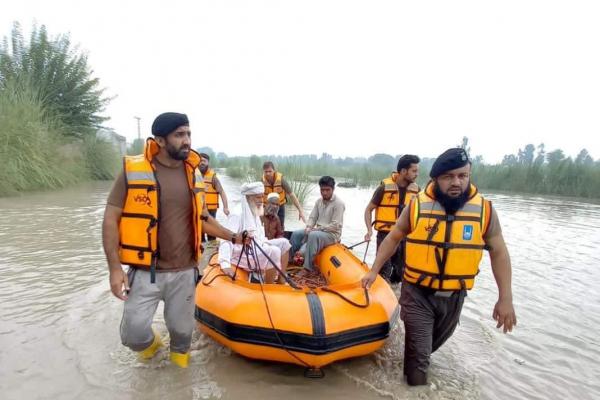
[[[512,303],[511,264],[500,222],[490,201],[470,181],[471,161],[464,149],[442,153],[431,181],[402,211],[369,271],[369,288],[384,262],[406,238],[406,265],[400,294],[404,321],[404,375],[409,385],[427,383],[431,353],[452,336],[466,291],[488,250],[498,286],[493,318],[497,328],[512,331],[517,318]]]

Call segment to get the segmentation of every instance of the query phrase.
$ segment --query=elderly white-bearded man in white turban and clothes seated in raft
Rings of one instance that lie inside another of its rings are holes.
[[[219,246],[219,264],[226,274],[233,275],[232,264],[238,264],[238,267],[245,270],[260,268],[263,277],[263,282],[273,283],[277,275],[277,270],[267,259],[267,256],[277,265],[277,267],[285,273],[288,265],[290,242],[287,239],[271,239],[267,240],[264,234],[260,217],[264,214],[263,195],[265,187],[262,182],[245,183],[241,187],[241,213],[236,212],[229,215],[225,226],[242,235],[244,231],[254,237],[257,245],[262,248],[265,254],[260,249],[256,249],[255,256],[258,260],[258,266],[255,264],[254,257],[242,254],[242,245],[233,244],[231,241],[221,241]],[[254,246],[252,245],[252,248]],[[248,265],[250,261],[250,265]],[[258,271],[257,271],[258,272]],[[279,282],[284,282],[284,277],[279,276]]]

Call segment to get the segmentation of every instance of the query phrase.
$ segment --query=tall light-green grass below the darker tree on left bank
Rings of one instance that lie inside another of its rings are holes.
[[[93,138],[67,141],[63,129],[26,80],[5,82],[0,88],[0,196],[114,176],[119,161],[110,144]]]

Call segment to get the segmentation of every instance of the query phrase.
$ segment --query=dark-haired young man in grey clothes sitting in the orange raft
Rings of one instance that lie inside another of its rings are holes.
[[[335,180],[331,176],[321,177],[319,188],[321,198],[316,201],[306,228],[294,231],[291,237],[292,254],[302,248],[304,268],[310,271],[314,270],[314,258],[322,248],[339,243],[346,210],[344,202],[333,194]]]

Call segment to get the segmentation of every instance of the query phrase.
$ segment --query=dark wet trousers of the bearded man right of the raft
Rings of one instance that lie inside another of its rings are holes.
[[[427,383],[431,354],[452,336],[466,290],[439,297],[432,289],[403,282],[400,317],[404,321],[404,375],[409,385]]]

